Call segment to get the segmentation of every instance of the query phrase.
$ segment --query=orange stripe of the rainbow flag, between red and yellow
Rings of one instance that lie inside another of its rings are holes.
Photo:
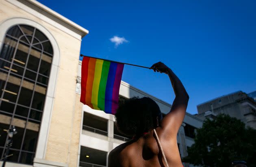
[[[85,102],[91,108],[93,108],[93,105],[91,104],[91,91],[93,87],[96,60],[97,59],[90,58],[89,65],[88,65],[88,78],[87,78],[87,85],[86,85]]]

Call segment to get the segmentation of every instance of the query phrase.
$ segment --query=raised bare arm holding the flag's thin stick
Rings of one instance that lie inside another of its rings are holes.
[[[171,106],[171,111],[165,115],[163,120],[160,122],[160,126],[163,129],[163,133],[167,134],[165,135],[166,137],[176,137],[180,125],[185,117],[189,95],[182,85],[180,79],[164,63],[155,63],[152,65],[151,69],[153,69],[154,72],[157,71],[167,74],[171,80],[171,85],[175,93],[175,99]]]

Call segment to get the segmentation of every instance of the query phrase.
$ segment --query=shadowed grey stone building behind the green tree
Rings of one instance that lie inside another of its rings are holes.
[[[197,105],[196,117],[204,120],[227,114],[241,120],[245,126],[256,129],[256,101],[242,91],[209,100]]]

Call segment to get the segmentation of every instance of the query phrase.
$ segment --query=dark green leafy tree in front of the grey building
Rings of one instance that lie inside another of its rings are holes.
[[[197,129],[195,143],[188,148],[183,162],[203,167],[230,167],[233,160],[256,166],[256,130],[229,115],[206,119]]]

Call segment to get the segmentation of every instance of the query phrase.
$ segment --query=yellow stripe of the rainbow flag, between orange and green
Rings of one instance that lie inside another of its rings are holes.
[[[92,95],[91,95],[91,103],[93,104],[93,108],[95,110],[100,109],[98,108],[98,92],[100,87],[102,65],[103,65],[103,60],[97,59],[96,65],[95,65],[95,73],[94,73],[93,88],[92,88]]]

